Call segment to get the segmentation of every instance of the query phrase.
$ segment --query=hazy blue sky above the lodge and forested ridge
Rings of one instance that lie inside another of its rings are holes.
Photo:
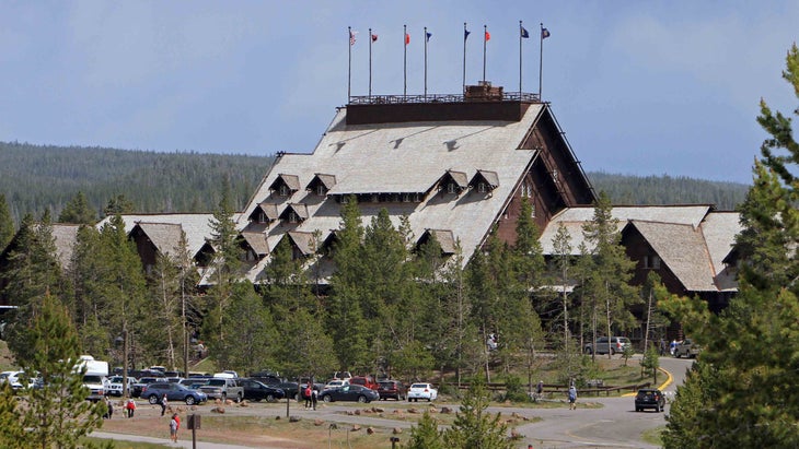
[[[539,87],[586,170],[751,181],[766,137],[761,97],[784,113],[797,1],[4,1],[0,140],[269,155],[312,152],[352,95],[460,93],[466,81]]]

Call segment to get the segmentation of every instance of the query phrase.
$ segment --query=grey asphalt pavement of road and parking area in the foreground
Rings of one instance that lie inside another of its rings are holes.
[[[630,363],[637,363],[630,361]],[[661,357],[661,368],[669,371],[669,376],[658,378],[658,382],[667,382],[662,385],[667,397],[672,397],[676,390],[676,386],[683,382],[685,370],[691,366],[693,361],[678,359],[672,357]],[[525,438],[520,441],[519,448],[526,448],[533,445],[534,448],[547,449],[568,449],[568,448],[641,448],[655,449],[657,446],[644,442],[640,437],[647,429],[665,425],[665,415],[669,413],[667,405],[665,413],[657,412],[635,412],[632,397],[622,398],[580,398],[581,401],[591,401],[602,404],[599,409],[578,407],[575,411],[568,410],[564,404],[556,409],[529,409],[529,407],[489,407],[491,412],[501,412],[502,416],[510,416],[516,412],[522,416],[541,417],[537,423],[524,424],[517,427],[517,432],[524,435]],[[386,413],[391,413],[395,402],[372,403],[373,406],[384,407]],[[417,404],[414,404],[415,406]],[[441,406],[442,404],[438,404]],[[456,405],[451,405],[456,410]],[[406,407],[402,403],[402,407]],[[426,404],[419,403],[417,406],[424,410]],[[362,407],[358,407],[362,409]],[[408,429],[415,423],[401,422],[396,420],[384,420],[377,415],[347,415],[341,413],[346,410],[355,410],[352,404],[325,404],[316,411],[306,411],[301,404],[292,403],[290,413],[292,415],[302,416],[305,420],[320,418],[327,422],[336,422],[343,424],[359,424],[361,426],[378,427],[402,427]],[[285,404],[253,404],[250,407],[229,407],[228,414],[235,415],[268,415],[283,414],[286,412]],[[113,437],[116,439],[128,439],[134,441],[152,441],[166,444],[172,447],[190,448],[190,441],[180,441],[177,445],[170,444],[167,439],[137,437],[132,435],[117,435],[107,433],[95,433],[99,437]],[[243,449],[243,446],[218,445],[209,442],[198,442],[198,448],[202,449]],[[263,446],[262,446],[263,447]]]

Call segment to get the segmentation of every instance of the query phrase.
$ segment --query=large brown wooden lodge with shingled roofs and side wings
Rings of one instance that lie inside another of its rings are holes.
[[[351,97],[313,153],[278,153],[236,215],[246,276],[262,282],[270,252],[288,239],[294,257],[306,258],[309,272],[324,279],[334,268],[323,249],[339,228],[341,203],[351,198],[364,224],[381,209],[395,225],[407,216],[417,244],[435,235],[451,256],[458,241],[466,263],[495,225],[501,239],[514,241],[524,198],[545,253],[552,253],[561,224],[577,252],[595,192],[537,95],[483,83],[464,95]],[[727,305],[737,290],[734,271],[725,263],[740,229],[737,213],[711,204],[614,205],[613,215],[637,262],[635,282],[655,271],[672,293],[698,295],[714,310]],[[183,231],[200,270],[213,251],[210,217],[123,216],[146,268],[159,252],[172,251]],[[69,251],[74,233],[56,228],[59,251]]]

